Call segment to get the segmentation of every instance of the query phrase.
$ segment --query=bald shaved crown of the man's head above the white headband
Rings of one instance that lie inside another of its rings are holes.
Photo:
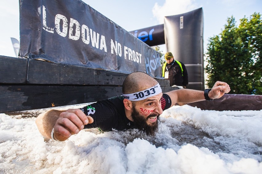
[[[150,75],[144,72],[132,72],[125,78],[122,91],[123,94],[131,94],[134,92],[143,91],[155,86],[156,84],[157,80],[155,80]]]

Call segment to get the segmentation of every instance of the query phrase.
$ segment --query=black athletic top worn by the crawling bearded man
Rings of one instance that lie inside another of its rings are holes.
[[[93,123],[85,125],[85,129],[100,128],[103,131],[111,131],[112,129],[128,130],[136,128],[134,123],[125,115],[123,100],[123,96],[117,96],[80,108],[85,115],[89,115],[94,119]],[[163,94],[161,97],[162,110],[166,110],[170,106],[171,99],[169,95]]]

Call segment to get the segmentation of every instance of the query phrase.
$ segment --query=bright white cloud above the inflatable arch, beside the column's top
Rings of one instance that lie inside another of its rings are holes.
[[[159,24],[163,24],[165,16],[183,14],[196,8],[195,0],[166,0],[163,6],[158,5],[156,2],[152,12]]]

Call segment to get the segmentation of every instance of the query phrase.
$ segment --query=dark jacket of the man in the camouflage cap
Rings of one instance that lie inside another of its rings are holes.
[[[180,65],[175,60],[173,60],[171,64],[165,63],[164,66],[162,67],[163,72],[166,72],[168,69],[169,72],[168,80],[170,81],[170,86],[177,85],[177,86],[186,87],[186,85],[188,85],[188,73],[185,64],[183,64],[182,62],[180,62],[180,64],[183,69],[183,73]]]

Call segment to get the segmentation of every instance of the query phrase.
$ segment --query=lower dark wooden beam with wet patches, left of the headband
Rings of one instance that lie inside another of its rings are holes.
[[[96,102],[122,95],[122,87],[1,85],[0,113]]]

